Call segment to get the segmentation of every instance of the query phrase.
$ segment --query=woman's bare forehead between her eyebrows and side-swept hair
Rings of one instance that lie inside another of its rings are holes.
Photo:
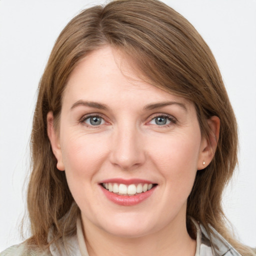
[[[135,72],[132,61],[110,46],[104,46],[82,58],[71,72],[63,103],[77,100],[102,103],[147,104],[149,101],[179,101],[183,97],[163,91],[143,81]]]

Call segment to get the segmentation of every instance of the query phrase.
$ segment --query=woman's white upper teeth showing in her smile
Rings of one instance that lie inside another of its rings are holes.
[[[136,193],[142,193],[149,189],[151,189],[153,184],[147,183],[139,183],[139,184],[118,184],[118,183],[103,183],[103,187],[110,192],[118,193],[118,194],[127,194],[133,195]]]

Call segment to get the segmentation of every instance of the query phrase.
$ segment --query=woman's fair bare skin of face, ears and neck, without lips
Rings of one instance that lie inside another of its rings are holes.
[[[172,103],[145,109],[159,102]],[[100,124],[91,125],[88,115],[100,116]],[[156,116],[166,124],[157,124]],[[72,71],[59,130],[53,128],[52,112],[47,123],[57,168],[65,170],[81,210],[90,256],[194,255],[195,240],[185,226],[186,200],[196,171],[210,162],[216,145],[201,137],[190,101],[142,81],[120,52],[104,46]],[[219,119],[213,116],[208,124],[217,138]],[[102,192],[99,183],[109,178],[140,178],[157,186],[139,204],[123,206]]]

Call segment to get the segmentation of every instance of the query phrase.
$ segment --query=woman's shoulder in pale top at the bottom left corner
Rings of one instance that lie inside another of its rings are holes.
[[[27,249],[26,243],[12,245],[0,252],[0,256],[51,256],[50,252],[39,252],[37,249]]]

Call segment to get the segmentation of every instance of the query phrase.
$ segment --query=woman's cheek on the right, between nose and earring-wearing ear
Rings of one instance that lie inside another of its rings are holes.
[[[152,148],[153,162],[164,176],[166,186],[175,188],[175,192],[191,189],[197,171],[200,133],[181,133],[158,139]]]

